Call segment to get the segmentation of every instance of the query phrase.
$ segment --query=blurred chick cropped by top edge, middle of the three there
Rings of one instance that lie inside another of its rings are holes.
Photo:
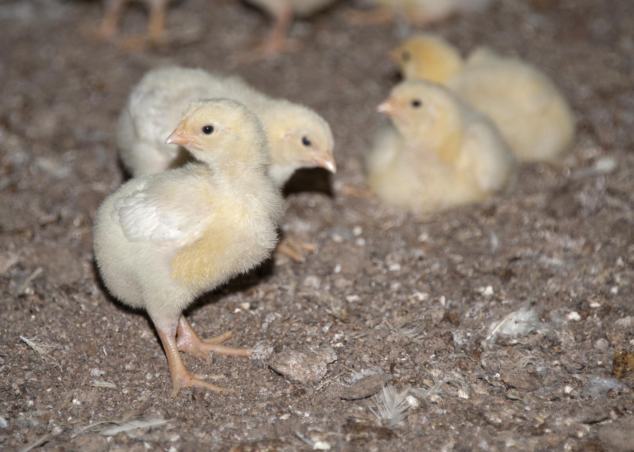
[[[306,18],[325,8],[335,0],[245,0],[263,9],[273,17],[273,28],[261,46],[245,54],[245,59],[256,60],[299,48],[297,42],[288,38],[288,30],[295,17]]]

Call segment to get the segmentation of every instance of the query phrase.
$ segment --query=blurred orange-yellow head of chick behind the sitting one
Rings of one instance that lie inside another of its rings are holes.
[[[444,84],[463,65],[458,50],[441,37],[420,34],[411,37],[391,52],[403,78],[418,78]]]

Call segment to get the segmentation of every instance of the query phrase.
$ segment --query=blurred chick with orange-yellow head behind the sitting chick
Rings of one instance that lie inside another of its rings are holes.
[[[477,49],[463,60],[433,35],[408,39],[392,52],[404,78],[448,86],[489,116],[520,161],[556,161],[574,140],[573,112],[555,84],[523,61]]]

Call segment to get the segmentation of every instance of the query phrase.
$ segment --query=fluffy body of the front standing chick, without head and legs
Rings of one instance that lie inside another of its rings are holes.
[[[210,187],[210,178],[203,165],[190,164],[132,179],[104,201],[94,253],[114,296],[152,315],[174,316],[271,253],[275,218],[268,211],[240,213],[240,201]],[[263,196],[275,199],[273,185],[264,188]]]

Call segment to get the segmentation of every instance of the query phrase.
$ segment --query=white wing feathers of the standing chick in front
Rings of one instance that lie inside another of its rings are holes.
[[[116,199],[110,216],[130,242],[171,242],[184,234],[178,216],[161,212],[142,189]]]

